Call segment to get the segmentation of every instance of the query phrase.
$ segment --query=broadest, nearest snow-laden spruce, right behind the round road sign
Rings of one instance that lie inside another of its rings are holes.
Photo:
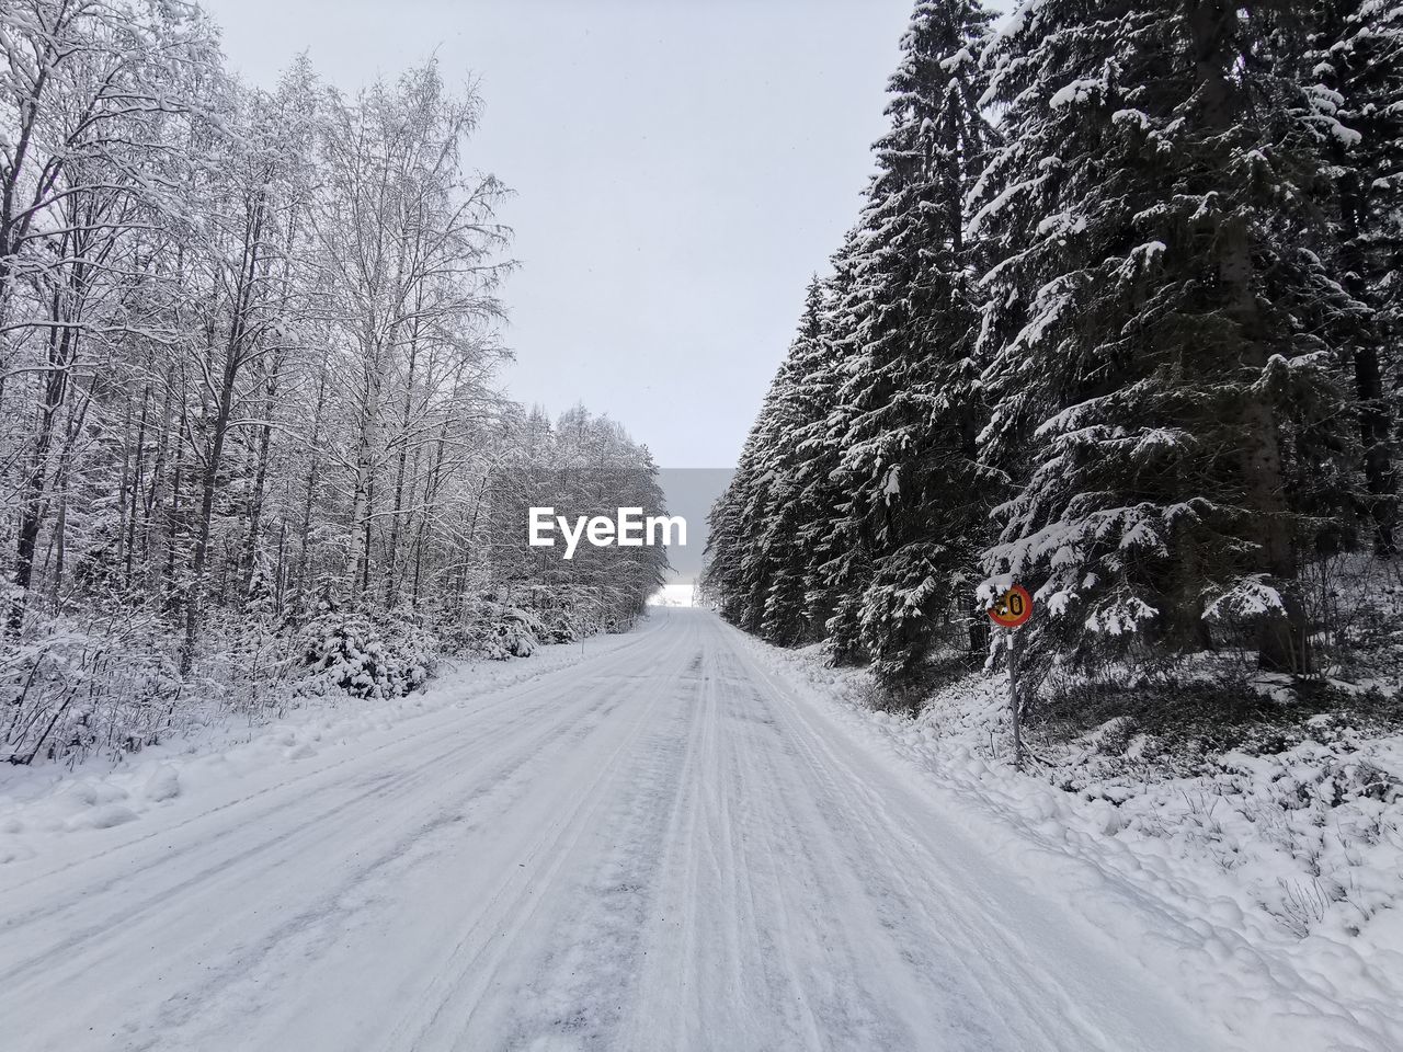
[[[1309,666],[1298,569],[1347,513],[1320,498],[1354,452],[1331,337],[1357,304],[1322,262],[1317,107],[1274,22],[1038,0],[988,52],[984,453],[1010,497],[985,568],[1037,589],[1044,656],[1194,648],[1232,616],[1263,666]]]

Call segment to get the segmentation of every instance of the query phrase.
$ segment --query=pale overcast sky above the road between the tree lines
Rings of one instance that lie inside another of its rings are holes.
[[[911,0],[203,0],[271,86],[436,50],[478,79],[470,163],[515,191],[512,396],[730,467],[810,275],[857,215]]]

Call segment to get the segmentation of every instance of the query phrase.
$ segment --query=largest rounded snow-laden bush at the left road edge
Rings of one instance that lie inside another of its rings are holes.
[[[422,686],[436,662],[432,634],[410,623],[377,624],[359,610],[325,602],[300,638],[309,685],[318,694],[342,690],[352,697],[400,697]]]

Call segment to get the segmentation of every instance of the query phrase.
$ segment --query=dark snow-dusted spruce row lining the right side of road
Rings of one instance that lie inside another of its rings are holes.
[[[890,130],[713,512],[706,585],[890,685],[982,649],[1312,668],[1396,537],[1403,8],[922,0]]]

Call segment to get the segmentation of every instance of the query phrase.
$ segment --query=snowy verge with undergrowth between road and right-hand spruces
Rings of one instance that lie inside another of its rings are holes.
[[[745,641],[1251,1046],[1403,1048],[1403,735],[1317,717],[1317,736],[1186,776],[1107,762],[1108,725],[1020,774],[1002,675],[909,718],[874,711],[870,675],[826,666],[818,647]]]

